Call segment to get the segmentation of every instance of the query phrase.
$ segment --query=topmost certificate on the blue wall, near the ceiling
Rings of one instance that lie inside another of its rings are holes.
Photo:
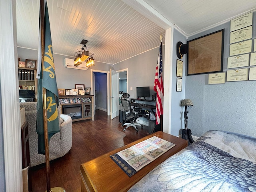
[[[230,32],[252,25],[252,12],[232,19],[230,21]]]

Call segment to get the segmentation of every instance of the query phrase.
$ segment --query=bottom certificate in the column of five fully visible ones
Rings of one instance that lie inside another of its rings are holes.
[[[247,81],[248,80],[248,68],[227,70],[227,82],[228,81]]]

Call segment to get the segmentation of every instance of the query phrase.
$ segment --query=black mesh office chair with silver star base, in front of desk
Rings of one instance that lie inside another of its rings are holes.
[[[138,132],[138,128],[136,126],[141,126],[141,128],[143,128],[141,124],[138,124],[136,122],[138,111],[132,111],[131,102],[128,99],[124,99],[122,97],[121,103],[124,108],[124,112],[123,112],[124,124],[122,124],[122,127],[126,126],[123,130],[125,131],[128,127],[132,126]]]

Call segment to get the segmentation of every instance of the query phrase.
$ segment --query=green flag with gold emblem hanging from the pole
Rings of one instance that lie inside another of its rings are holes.
[[[40,79],[38,79],[38,102],[37,102],[37,127],[38,133],[38,154],[45,154],[44,148],[44,118],[43,118],[43,99],[42,90],[46,89],[46,110],[47,110],[47,126],[48,141],[57,132],[60,132],[58,120],[58,88],[56,83],[55,67],[52,51],[52,37],[50,30],[50,22],[48,16],[47,2],[44,14],[45,22],[45,41],[44,41],[44,65],[41,66]]]

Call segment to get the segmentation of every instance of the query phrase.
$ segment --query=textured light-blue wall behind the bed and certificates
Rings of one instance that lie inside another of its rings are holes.
[[[256,38],[255,24],[256,12],[253,14],[252,39]],[[225,29],[223,72],[226,72],[230,46],[230,22],[191,36],[188,40],[223,28]],[[243,68],[250,68],[250,66]],[[186,76],[185,97],[194,102],[194,106],[189,107],[188,128],[195,136],[201,136],[208,130],[226,130],[256,137],[255,88],[256,81],[209,85],[208,74]]]

